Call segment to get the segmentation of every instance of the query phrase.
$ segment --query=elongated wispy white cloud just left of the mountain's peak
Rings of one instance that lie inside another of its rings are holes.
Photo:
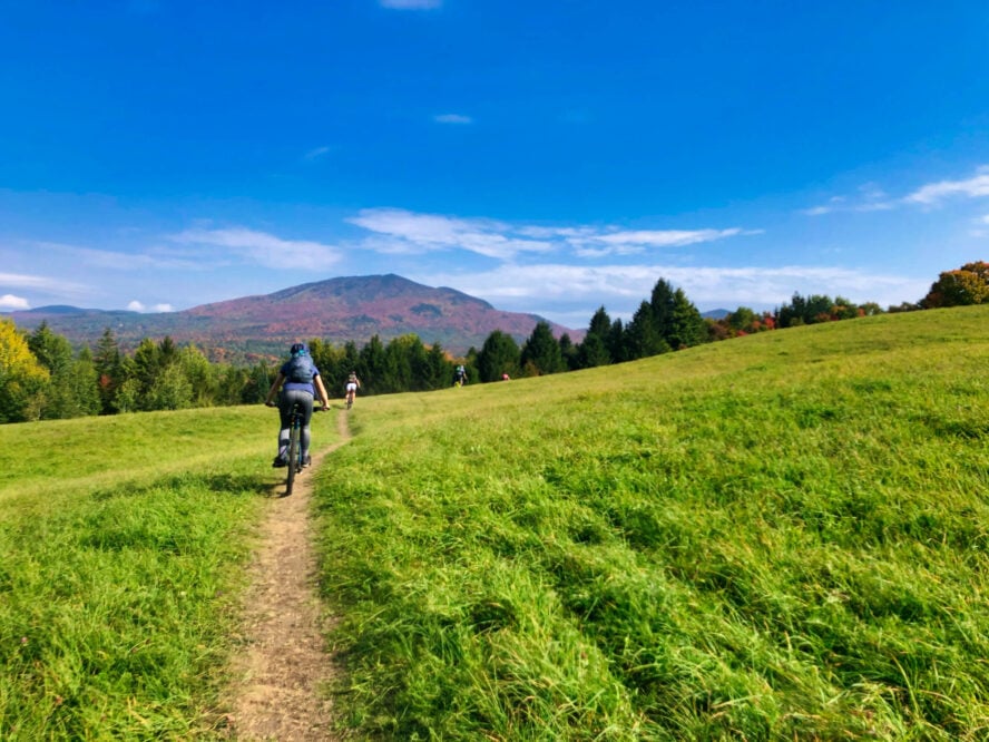
[[[246,258],[264,267],[281,270],[322,270],[336,263],[341,253],[336,247],[306,240],[282,240],[265,232],[245,227],[227,230],[193,228],[172,237],[179,244],[221,248],[218,254]],[[216,254],[213,257],[217,257]]]

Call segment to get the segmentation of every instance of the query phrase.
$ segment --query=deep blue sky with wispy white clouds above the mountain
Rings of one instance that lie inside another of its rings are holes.
[[[989,3],[0,0],[0,311],[398,273],[587,325],[989,260]]]

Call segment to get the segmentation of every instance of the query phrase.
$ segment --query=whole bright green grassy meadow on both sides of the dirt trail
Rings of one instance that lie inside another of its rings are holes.
[[[359,397],[313,502],[340,725],[989,738],[987,369],[976,306]],[[224,736],[275,427],[0,426],[0,739]]]

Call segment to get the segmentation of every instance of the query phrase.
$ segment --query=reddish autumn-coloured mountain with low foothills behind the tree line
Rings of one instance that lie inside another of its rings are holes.
[[[215,360],[284,355],[293,342],[313,338],[334,344],[353,340],[360,348],[375,334],[386,343],[410,333],[424,343],[439,342],[462,354],[471,345],[479,349],[494,330],[521,343],[537,322],[545,321],[536,314],[502,312],[453,289],[433,289],[394,274],[329,279],[182,312],[140,314],[42,306],[12,312],[11,316],[27,330],[48,322],[52,332],[77,346],[95,346],[109,328],[124,349],[133,349],[144,338],[169,335],[178,344],[195,343]],[[575,342],[584,334],[549,324],[554,334],[566,332]]]

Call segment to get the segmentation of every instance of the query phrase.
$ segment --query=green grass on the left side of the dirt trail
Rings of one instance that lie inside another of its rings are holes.
[[[276,427],[261,407],[0,427],[0,739],[219,733]]]

